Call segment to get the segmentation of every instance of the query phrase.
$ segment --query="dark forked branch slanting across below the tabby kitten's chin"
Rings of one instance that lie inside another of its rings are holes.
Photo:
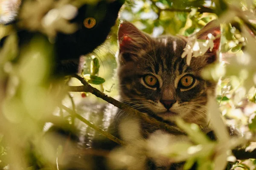
[[[176,126],[171,126],[164,122],[160,122],[157,119],[147,116],[147,115],[141,113],[140,111],[137,111],[136,109],[131,108],[130,106],[125,105],[124,103],[119,102],[116,99],[113,99],[112,97],[108,96],[107,94],[102,93],[98,89],[92,87],[83,77],[80,77],[79,75],[76,75],[76,74],[73,75],[73,77],[79,79],[83,85],[82,86],[70,86],[69,91],[89,92],[89,93],[94,94],[95,96],[111,103],[112,105],[116,106],[117,108],[122,109],[125,112],[139,116],[145,122],[148,122],[149,124],[154,125],[162,130],[165,130],[165,131],[167,131],[169,133],[173,133],[173,134],[185,134],[182,130],[180,130]]]

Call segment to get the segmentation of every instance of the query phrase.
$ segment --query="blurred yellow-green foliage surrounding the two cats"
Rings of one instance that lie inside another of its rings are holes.
[[[40,31],[46,36],[37,35],[31,42],[21,47],[17,44],[16,28],[0,26],[0,38],[9,35],[3,48],[0,49],[0,94],[3,96],[0,99],[1,168],[58,169],[58,165],[65,166],[67,151],[76,151],[70,141],[63,142],[58,136],[52,137],[59,141],[56,142],[58,149],[53,149],[55,147],[50,143],[52,139],[45,139],[44,136],[44,128],[47,127],[45,124],[51,122],[59,125],[68,122],[69,130],[77,130],[76,126],[81,125],[80,120],[75,119],[74,114],[66,113],[60,105],[66,105],[72,108],[71,111],[79,113],[79,103],[86,102],[91,107],[92,101],[102,103],[102,100],[90,94],[83,95],[84,92],[82,95],[74,92],[68,96],[67,88],[63,88],[66,87],[65,83],[59,80],[49,81],[54,55],[54,47],[49,40],[55,36],[56,30],[69,33],[75,26],[64,18],[55,20],[47,26],[42,26],[41,23],[49,19],[47,12],[51,8],[60,10],[61,6],[68,3],[79,6],[94,1],[60,0],[54,3],[53,0],[44,0],[40,6],[25,4],[20,16],[26,18],[26,22],[21,27]],[[218,18],[221,22],[223,34],[220,57],[223,61],[221,65],[207,68],[205,75],[212,79],[221,78],[218,82],[216,100],[224,122],[235,124],[246,133],[244,138],[230,138],[222,128],[224,125],[222,120],[212,116],[211,123],[214,130],[219,139],[222,139],[213,142],[201,133],[197,125],[189,125],[177,119],[177,125],[187,133],[192,142],[177,142],[168,146],[169,152],[160,154],[174,161],[186,161],[185,169],[189,169],[194,162],[197,162],[198,170],[221,170],[224,169],[227,161],[230,162],[231,169],[256,168],[255,159],[236,161],[231,153],[232,149],[244,144],[247,150],[253,150],[253,144],[249,146],[248,142],[256,140],[253,135],[256,129],[255,9],[254,0],[127,0],[120,13],[121,20],[134,23],[137,28],[154,37],[162,34],[189,36],[199,31],[210,20]],[[72,14],[70,12],[70,15]],[[116,68],[114,55],[118,51],[116,39],[118,23],[119,21],[112,28],[107,42],[85,57],[81,74],[88,83],[110,96],[118,94],[114,85],[117,83],[113,79]],[[195,43],[191,47],[194,45]],[[21,49],[20,54],[18,54],[19,49]],[[80,83],[72,78],[68,84]],[[93,110],[86,108],[82,116],[94,125],[101,126],[97,122],[99,116],[95,116],[98,106],[96,105]],[[212,115],[219,113],[217,106],[211,107],[215,111]],[[102,127],[102,129],[107,128]],[[89,127],[87,132],[95,135]],[[34,148],[32,153],[31,148]],[[115,162],[116,158],[113,160]]]

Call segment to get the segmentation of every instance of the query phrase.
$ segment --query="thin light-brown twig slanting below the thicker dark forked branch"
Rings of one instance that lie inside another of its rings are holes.
[[[106,132],[105,130],[99,128],[98,126],[93,125],[93,123],[91,123],[87,119],[84,119],[81,115],[79,115],[78,113],[76,113],[72,109],[67,108],[64,105],[61,105],[60,108],[64,109],[65,111],[67,111],[68,113],[72,114],[73,116],[76,116],[77,119],[81,120],[82,122],[84,122],[89,127],[93,128],[94,130],[98,131],[102,135],[106,136],[108,139],[111,139],[113,142],[116,142],[116,143],[121,144],[121,145],[125,145],[125,143],[122,140],[116,138],[115,136],[113,136],[110,133]]]

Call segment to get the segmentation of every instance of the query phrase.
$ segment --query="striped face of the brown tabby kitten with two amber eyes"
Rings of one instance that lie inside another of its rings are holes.
[[[199,38],[204,35],[201,32]],[[201,71],[216,59],[218,45],[208,57],[193,57],[187,65],[181,58],[185,40],[152,38],[130,23],[119,28],[119,45],[119,83],[125,103],[164,120],[181,116],[187,122],[207,123],[207,96],[214,95],[216,84],[202,79]]]

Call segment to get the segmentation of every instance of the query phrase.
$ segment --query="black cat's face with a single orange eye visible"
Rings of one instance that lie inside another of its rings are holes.
[[[79,29],[66,38],[76,41],[77,51],[81,55],[90,53],[106,40],[123,3],[124,0],[102,0],[96,4],[81,6],[78,15],[71,20]]]

